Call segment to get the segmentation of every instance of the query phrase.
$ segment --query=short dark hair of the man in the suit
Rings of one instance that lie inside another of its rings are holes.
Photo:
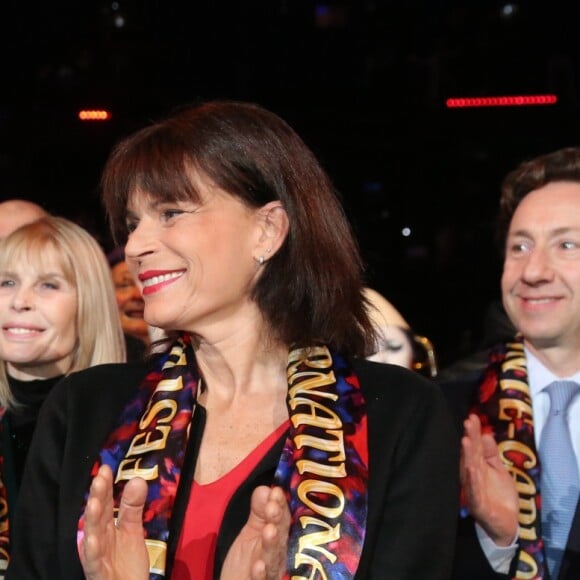
[[[522,199],[554,181],[580,183],[580,147],[565,147],[524,161],[506,175],[501,185],[496,232],[502,253],[512,217]]]

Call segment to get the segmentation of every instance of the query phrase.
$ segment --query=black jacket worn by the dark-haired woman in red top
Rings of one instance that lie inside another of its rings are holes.
[[[367,533],[356,578],[448,580],[459,490],[451,413],[437,385],[418,374],[365,360],[353,364],[367,401],[370,455]],[[63,380],[47,399],[20,491],[8,580],[83,578],[76,532],[90,470],[145,372],[140,363],[93,367]],[[202,433],[203,421],[196,418],[168,562]],[[216,578],[247,519],[252,490],[273,480],[282,443],[276,443],[228,506],[218,537]]]

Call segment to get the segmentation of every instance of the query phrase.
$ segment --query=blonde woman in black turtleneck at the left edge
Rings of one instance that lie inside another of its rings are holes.
[[[48,216],[0,241],[0,571],[41,404],[62,377],[124,360],[109,265],[86,230]]]

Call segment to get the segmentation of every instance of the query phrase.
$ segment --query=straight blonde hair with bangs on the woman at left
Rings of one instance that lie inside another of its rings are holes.
[[[64,277],[77,292],[77,341],[66,374],[98,364],[124,362],[125,339],[109,264],[88,231],[66,218],[47,216],[0,241],[0,270],[26,263],[42,272],[48,256],[57,258]],[[15,405],[6,362],[1,360],[0,405]]]

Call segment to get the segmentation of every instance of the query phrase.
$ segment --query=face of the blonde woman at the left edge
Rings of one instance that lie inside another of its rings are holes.
[[[0,272],[0,359],[11,376],[50,378],[70,369],[77,304],[56,256],[43,257],[42,267],[19,260]]]

